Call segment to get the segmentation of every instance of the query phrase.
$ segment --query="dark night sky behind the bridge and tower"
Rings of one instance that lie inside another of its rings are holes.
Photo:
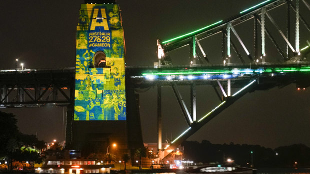
[[[152,65],[156,59],[156,38],[162,40],[228,18],[261,0],[118,0],[121,8],[128,66]],[[83,0],[1,1],[0,69],[14,68],[15,59],[26,68],[75,66],[75,29]],[[300,1],[301,3],[301,1]],[[270,12],[284,15],[281,8]],[[306,13],[305,16],[307,16]],[[283,17],[278,19],[280,26]],[[253,38],[251,23],[236,26],[243,38]],[[284,26],[284,25],[283,25]],[[301,34],[304,28],[301,28]],[[302,37],[303,36],[303,37]],[[300,36],[300,47],[307,35]],[[213,62],[220,61],[220,35],[201,41]],[[250,39],[244,42],[252,44]],[[303,40],[302,40],[303,39]],[[267,40],[267,38],[266,38]],[[280,42],[281,45],[282,42]],[[294,42],[293,42],[294,43]],[[272,45],[267,41],[267,46]],[[282,44],[283,45],[283,44]],[[240,49],[241,50],[241,49]],[[250,52],[253,52],[250,50]],[[274,49],[267,56],[278,57]],[[187,64],[188,48],[171,52],[175,65]],[[276,59],[276,58],[275,58]],[[188,103],[189,87],[179,87]],[[163,141],[177,137],[186,124],[172,89],[163,87]],[[189,140],[211,143],[259,144],[265,147],[302,143],[310,146],[310,92],[295,85],[246,94]],[[156,142],[156,88],[140,95],[140,115],[144,142]],[[213,89],[197,87],[197,117],[219,104]],[[188,105],[189,106],[189,105]],[[62,107],[1,109],[17,116],[25,134],[35,134],[47,142],[64,140]]]

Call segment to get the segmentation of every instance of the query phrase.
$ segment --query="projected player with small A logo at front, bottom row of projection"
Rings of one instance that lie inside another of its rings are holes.
[[[96,98],[95,91],[89,91],[89,100],[86,110],[88,113],[86,116],[88,115],[89,120],[102,120],[101,103],[100,100]]]

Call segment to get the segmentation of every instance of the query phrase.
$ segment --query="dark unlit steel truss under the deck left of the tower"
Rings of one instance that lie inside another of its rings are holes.
[[[74,101],[74,73],[74,69],[0,73],[0,107],[71,105]]]

